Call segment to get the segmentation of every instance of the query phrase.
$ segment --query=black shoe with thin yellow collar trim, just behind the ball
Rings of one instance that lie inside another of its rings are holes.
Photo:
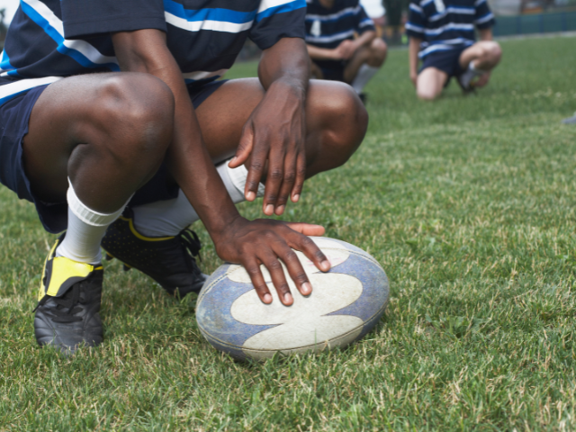
[[[191,229],[184,229],[175,237],[145,237],[134,227],[129,210],[108,227],[102,247],[108,255],[106,259],[119,259],[127,270],[136,268],[170,295],[200,293],[206,281],[207,276],[202,275],[194,259],[202,245]]]

